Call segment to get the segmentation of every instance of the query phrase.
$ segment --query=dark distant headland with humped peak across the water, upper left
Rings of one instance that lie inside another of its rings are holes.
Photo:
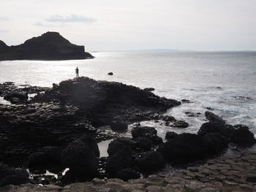
[[[8,46],[0,40],[0,61],[71,60],[86,58],[94,58],[94,56],[85,52],[84,46],[70,43],[58,32],[47,32],[15,46]]]

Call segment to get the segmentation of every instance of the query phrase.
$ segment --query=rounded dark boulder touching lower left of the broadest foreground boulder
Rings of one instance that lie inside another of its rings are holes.
[[[156,151],[148,151],[143,153],[138,159],[138,167],[141,171],[151,173],[158,171],[165,166],[165,158],[161,153]]]

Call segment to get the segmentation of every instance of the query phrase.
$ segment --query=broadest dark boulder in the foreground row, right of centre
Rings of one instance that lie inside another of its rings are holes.
[[[173,164],[187,164],[206,156],[203,139],[197,134],[178,134],[157,149],[165,160]]]

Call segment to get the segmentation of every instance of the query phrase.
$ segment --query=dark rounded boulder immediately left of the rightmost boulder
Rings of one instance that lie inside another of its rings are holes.
[[[203,136],[203,145],[209,154],[221,153],[228,146],[228,139],[218,133],[208,133]]]

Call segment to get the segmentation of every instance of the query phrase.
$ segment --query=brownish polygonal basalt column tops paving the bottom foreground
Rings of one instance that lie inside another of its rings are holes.
[[[176,192],[254,192],[256,191],[256,153],[244,152],[222,156],[200,166],[189,166],[173,174],[153,174],[147,178],[119,179],[56,185],[8,185],[0,188],[9,191],[176,191]]]

